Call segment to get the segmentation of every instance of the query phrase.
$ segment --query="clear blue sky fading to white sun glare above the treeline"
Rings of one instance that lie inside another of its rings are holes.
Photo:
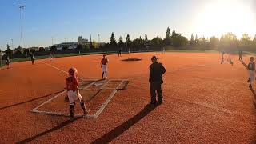
[[[18,5],[22,10],[22,22]],[[165,38],[166,28],[190,39],[233,32],[256,34],[254,0],[0,0],[0,48],[77,42],[78,36],[110,42],[120,36]],[[12,41],[13,40],[13,45]]]

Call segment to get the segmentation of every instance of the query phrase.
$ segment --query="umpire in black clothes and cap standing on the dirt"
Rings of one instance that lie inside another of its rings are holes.
[[[166,69],[162,66],[162,63],[158,63],[156,56],[153,56],[151,61],[153,63],[150,65],[150,104],[156,104],[156,91],[158,93],[158,102],[162,103],[162,74],[165,74]]]

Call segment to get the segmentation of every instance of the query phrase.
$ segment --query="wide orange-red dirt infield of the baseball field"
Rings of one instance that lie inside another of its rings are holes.
[[[149,106],[148,67],[157,55],[166,67],[164,103]],[[12,63],[0,70],[0,143],[250,143],[256,142],[254,94],[248,75],[232,56],[222,65],[217,53],[138,53],[109,55],[108,78],[127,79],[96,119],[35,114],[30,110],[65,90],[67,71],[78,69],[84,80],[101,78],[102,55]],[[123,62],[125,58],[140,58]],[[249,57],[245,58],[246,63]],[[47,65],[48,64],[48,65]],[[83,83],[86,86],[88,83]],[[118,83],[106,84],[113,88]],[[255,89],[255,86],[254,86]],[[111,90],[82,91],[86,106],[99,107]],[[40,110],[68,113],[65,92]],[[97,110],[92,109],[91,113]],[[81,113],[77,103],[75,113]]]

